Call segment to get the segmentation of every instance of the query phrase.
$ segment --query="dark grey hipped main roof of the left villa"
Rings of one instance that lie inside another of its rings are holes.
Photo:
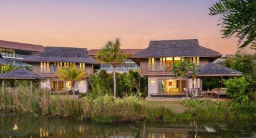
[[[31,62],[67,62],[98,64],[86,54],[87,49],[73,47],[45,47],[43,52],[29,56],[22,61]]]

